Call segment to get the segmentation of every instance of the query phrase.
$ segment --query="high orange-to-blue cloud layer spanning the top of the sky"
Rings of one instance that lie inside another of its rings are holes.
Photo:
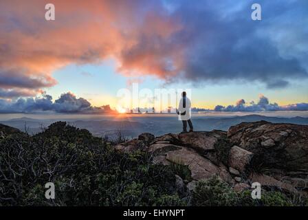
[[[55,69],[113,57],[125,76],[168,82],[261,82],[287,87],[307,78],[307,1],[60,1],[45,21],[44,1],[0,3],[0,85],[52,87]],[[288,28],[285,28],[288,27]]]

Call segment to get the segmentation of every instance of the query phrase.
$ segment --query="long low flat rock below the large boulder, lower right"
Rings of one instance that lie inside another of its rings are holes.
[[[261,184],[262,187],[264,186],[269,188],[275,187],[280,190],[285,190],[287,192],[293,192],[293,193],[298,192],[298,190],[296,190],[296,188],[294,188],[294,186],[292,186],[291,184],[287,184],[283,181],[278,181],[274,177],[270,177],[268,175],[263,175],[263,174],[260,175],[254,173],[250,176],[250,179],[252,182],[259,182],[259,184]]]

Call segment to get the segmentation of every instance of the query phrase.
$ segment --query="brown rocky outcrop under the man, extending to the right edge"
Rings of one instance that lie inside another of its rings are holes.
[[[228,131],[168,133],[138,138],[115,146],[119,151],[151,153],[154,164],[184,164],[191,181],[177,184],[193,190],[198,180],[220,177],[241,192],[259,182],[263,189],[307,195],[308,126],[243,122]]]

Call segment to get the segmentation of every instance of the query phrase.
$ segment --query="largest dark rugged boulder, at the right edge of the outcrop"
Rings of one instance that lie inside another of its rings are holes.
[[[254,153],[253,164],[282,173],[308,170],[308,126],[243,122],[231,126],[230,143]]]

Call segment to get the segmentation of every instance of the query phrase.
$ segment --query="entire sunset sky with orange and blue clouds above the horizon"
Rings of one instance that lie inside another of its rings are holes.
[[[199,110],[307,111],[307,23],[306,0],[3,0],[0,113],[112,111],[133,83],[191,89]]]

